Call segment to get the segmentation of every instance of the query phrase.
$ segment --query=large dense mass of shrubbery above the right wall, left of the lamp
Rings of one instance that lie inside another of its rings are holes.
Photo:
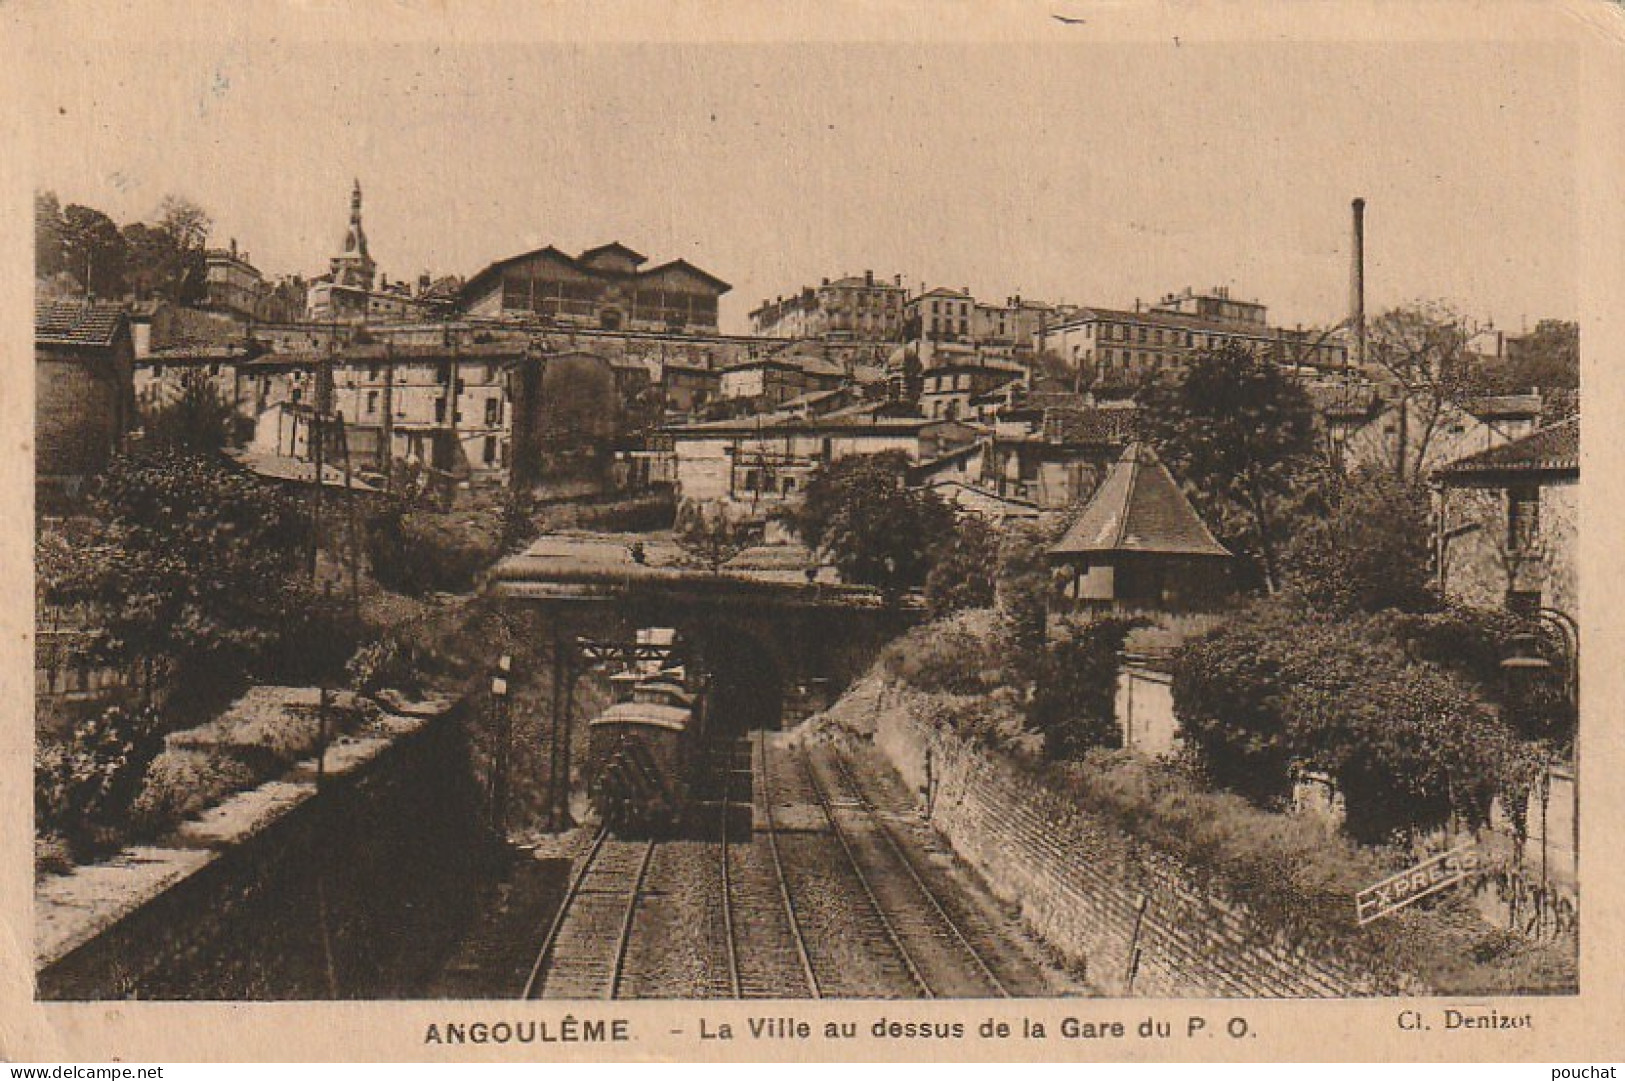
[[[1349,834],[1380,842],[1487,819],[1531,749],[1459,676],[1409,658],[1375,619],[1261,601],[1175,657],[1180,730],[1212,779],[1271,805],[1328,772]]]

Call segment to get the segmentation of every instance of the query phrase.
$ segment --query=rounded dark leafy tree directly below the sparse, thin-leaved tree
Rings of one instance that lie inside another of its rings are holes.
[[[1285,585],[1316,608],[1432,608],[1432,507],[1420,483],[1367,467],[1332,475],[1282,554]]]

